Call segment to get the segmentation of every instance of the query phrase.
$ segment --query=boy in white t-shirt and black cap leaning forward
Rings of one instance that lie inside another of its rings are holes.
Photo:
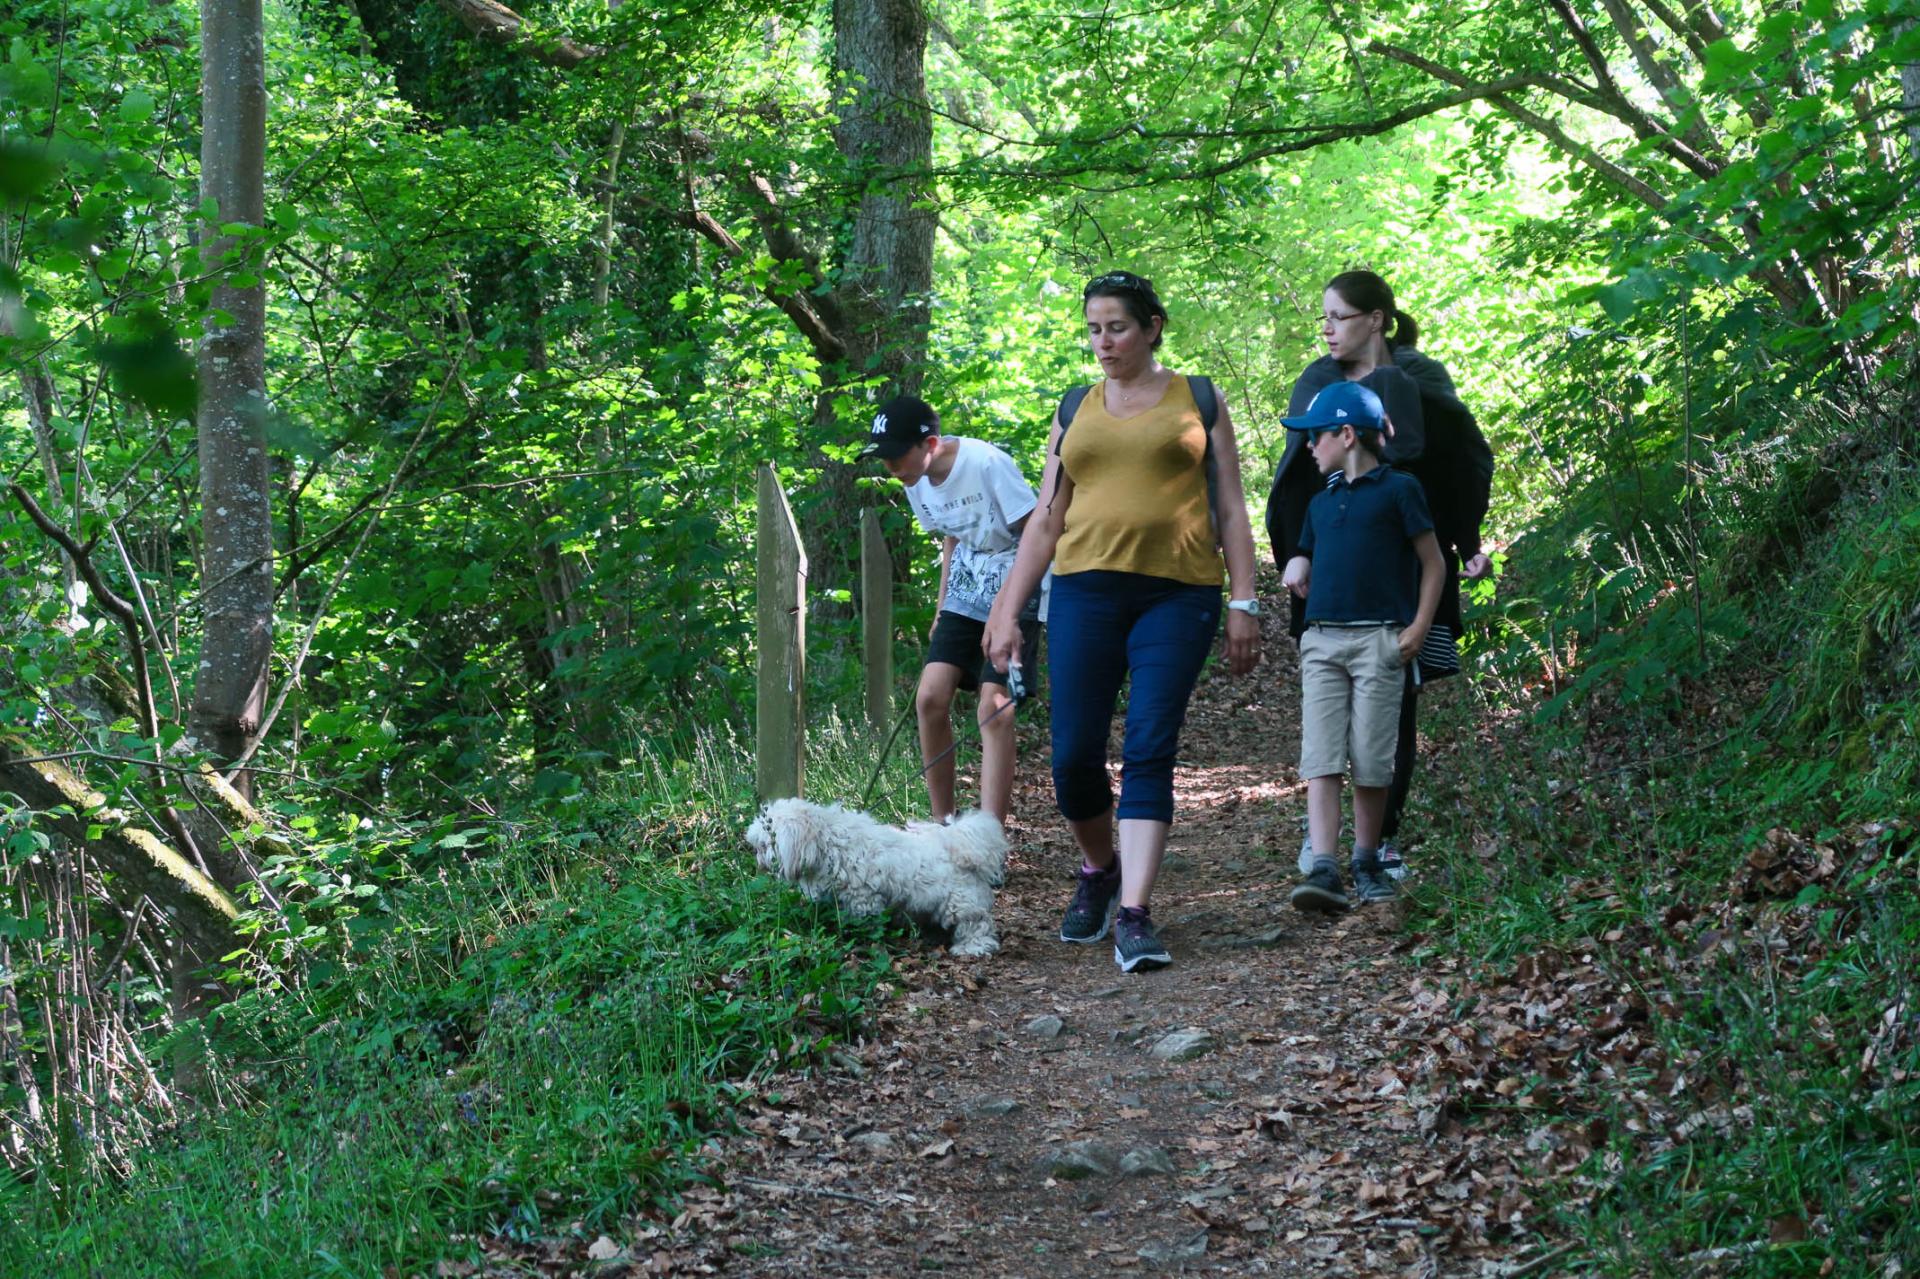
[[[941,417],[925,401],[895,396],[874,417],[862,457],[879,457],[887,474],[906,486],[906,501],[927,532],[943,538],[939,615],[920,672],[914,709],[920,714],[920,759],[933,818],[954,808],[956,689],[979,689],[979,807],[1006,824],[1014,789],[1014,701],[1008,672],[981,651],[987,615],[1000,591],[1020,530],[1035,495],[1020,467],[985,440],[941,434]],[[1041,591],[1020,622],[1020,674],[1027,688],[1037,674]]]

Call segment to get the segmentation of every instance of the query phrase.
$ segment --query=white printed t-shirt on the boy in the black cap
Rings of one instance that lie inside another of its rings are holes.
[[[906,503],[922,528],[954,540],[941,609],[985,622],[1020,549],[1012,526],[1033,513],[1037,499],[1020,465],[1002,449],[985,440],[956,436],[954,442],[960,449],[947,480],[935,484],[929,476],[910,484]],[[1021,609],[1023,618],[1041,616],[1043,591],[1044,584]]]

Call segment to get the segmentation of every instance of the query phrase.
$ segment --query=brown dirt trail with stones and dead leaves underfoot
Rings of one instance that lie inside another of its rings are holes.
[[[1428,1091],[1448,1001],[1396,954],[1400,910],[1286,905],[1304,785],[1273,618],[1265,649],[1188,716],[1171,968],[1056,939],[1077,860],[1025,726],[1000,954],[904,960],[866,1045],[716,1143],[724,1191],[620,1241],[630,1273],[1551,1273],[1511,1162]],[[1156,1056],[1179,1031],[1206,1043]]]

